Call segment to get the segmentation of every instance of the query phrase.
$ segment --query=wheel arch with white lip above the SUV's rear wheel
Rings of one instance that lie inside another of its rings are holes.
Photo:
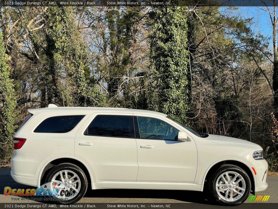
[[[72,164],[80,167],[87,177],[88,185],[92,186],[93,177],[92,177],[92,174],[89,171],[89,168],[87,167],[87,165],[84,162],[82,162],[80,159],[72,158],[72,157],[56,158],[56,159],[52,159],[52,160],[48,161],[47,163],[45,163],[43,169],[41,169],[41,172],[39,174],[38,184],[41,185],[42,183],[45,183],[44,181],[45,181],[45,178],[46,178],[48,172],[50,172],[50,170],[53,167],[55,167],[56,165],[59,165],[61,163],[72,163]]]

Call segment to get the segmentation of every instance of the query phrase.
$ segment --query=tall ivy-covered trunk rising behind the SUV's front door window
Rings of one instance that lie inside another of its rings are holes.
[[[149,108],[186,122],[191,87],[184,7],[158,7],[151,17]]]

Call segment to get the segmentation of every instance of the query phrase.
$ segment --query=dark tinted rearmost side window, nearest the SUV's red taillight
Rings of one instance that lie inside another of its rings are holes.
[[[66,133],[71,131],[84,115],[75,116],[55,116],[45,119],[36,127],[36,133]]]

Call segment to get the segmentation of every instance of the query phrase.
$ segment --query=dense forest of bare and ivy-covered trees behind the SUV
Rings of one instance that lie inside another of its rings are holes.
[[[272,39],[236,9],[2,7],[1,166],[26,110],[56,104],[160,111],[258,143],[278,171],[276,7]]]

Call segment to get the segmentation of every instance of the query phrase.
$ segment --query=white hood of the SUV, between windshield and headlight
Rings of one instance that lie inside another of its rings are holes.
[[[205,139],[211,140],[214,143],[222,144],[222,145],[254,149],[254,151],[262,150],[261,146],[253,142],[238,139],[238,138],[228,137],[228,136],[218,136],[218,135],[209,134],[209,136],[206,137]]]

